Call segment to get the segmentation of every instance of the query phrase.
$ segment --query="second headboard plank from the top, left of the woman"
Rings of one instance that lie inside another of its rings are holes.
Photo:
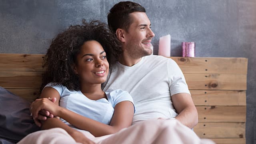
[[[0,71],[0,86],[4,88],[40,88],[42,72]]]

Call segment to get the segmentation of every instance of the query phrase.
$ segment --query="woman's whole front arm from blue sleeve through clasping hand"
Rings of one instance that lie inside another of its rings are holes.
[[[134,106],[130,101],[122,101],[116,104],[110,125],[86,118],[66,108],[57,106],[48,100],[48,98],[36,100],[33,106],[35,108],[32,113],[35,117],[37,117],[40,110],[45,109],[54,116],[60,116],[73,126],[89,131],[94,136],[113,134],[122,128],[130,126],[134,115]]]

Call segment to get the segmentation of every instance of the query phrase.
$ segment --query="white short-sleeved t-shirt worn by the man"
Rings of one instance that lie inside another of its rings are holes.
[[[134,100],[133,124],[150,118],[176,117],[171,96],[190,94],[178,64],[156,55],[144,56],[133,66],[114,64],[104,90],[117,88],[129,92]]]

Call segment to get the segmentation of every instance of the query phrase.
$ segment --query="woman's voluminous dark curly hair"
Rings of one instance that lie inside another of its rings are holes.
[[[40,92],[46,84],[62,84],[69,90],[80,90],[80,81],[74,72],[76,56],[84,42],[96,40],[106,52],[107,60],[111,66],[122,53],[120,41],[110,32],[105,23],[83,20],[82,25],[69,26],[52,40],[50,48],[44,57],[44,73]]]

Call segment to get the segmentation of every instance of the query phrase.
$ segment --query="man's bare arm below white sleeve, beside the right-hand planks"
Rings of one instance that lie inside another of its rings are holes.
[[[178,113],[176,119],[189,128],[196,126],[198,113],[190,94],[178,93],[172,95],[171,98],[172,104]]]

